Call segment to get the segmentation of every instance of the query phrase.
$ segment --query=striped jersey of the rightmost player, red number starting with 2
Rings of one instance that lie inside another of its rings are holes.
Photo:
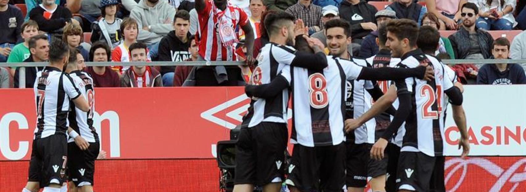
[[[434,80],[427,82],[413,77],[397,82],[398,92],[407,90],[412,97],[412,110],[406,119],[406,134],[403,136],[401,151],[420,151],[428,156],[441,156],[444,140],[444,124],[440,116],[442,102],[444,90],[453,87],[453,83],[444,65],[437,58],[423,54],[420,49],[404,55],[400,63],[402,67],[409,68],[428,64],[434,68]]]

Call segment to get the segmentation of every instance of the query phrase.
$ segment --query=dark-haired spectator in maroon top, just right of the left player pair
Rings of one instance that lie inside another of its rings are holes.
[[[110,48],[104,42],[95,42],[89,57],[93,62],[109,62]],[[89,66],[84,71],[93,78],[94,87],[120,87],[119,74],[109,66]]]

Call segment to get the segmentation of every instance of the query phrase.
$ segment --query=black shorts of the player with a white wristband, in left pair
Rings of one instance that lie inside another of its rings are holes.
[[[99,143],[89,143],[86,150],[80,150],[75,142],[68,143],[67,173],[69,181],[75,186],[93,186],[93,174],[95,173],[95,159],[99,154]]]

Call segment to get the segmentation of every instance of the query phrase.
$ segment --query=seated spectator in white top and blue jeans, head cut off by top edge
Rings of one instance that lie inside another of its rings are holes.
[[[511,30],[517,22],[513,17],[515,0],[469,0],[479,7],[477,28],[489,30]]]

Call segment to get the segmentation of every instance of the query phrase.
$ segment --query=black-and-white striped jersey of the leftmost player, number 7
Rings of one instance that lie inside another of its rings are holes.
[[[35,84],[37,122],[35,139],[67,133],[69,101],[80,96],[73,79],[56,67],[37,72]]]

